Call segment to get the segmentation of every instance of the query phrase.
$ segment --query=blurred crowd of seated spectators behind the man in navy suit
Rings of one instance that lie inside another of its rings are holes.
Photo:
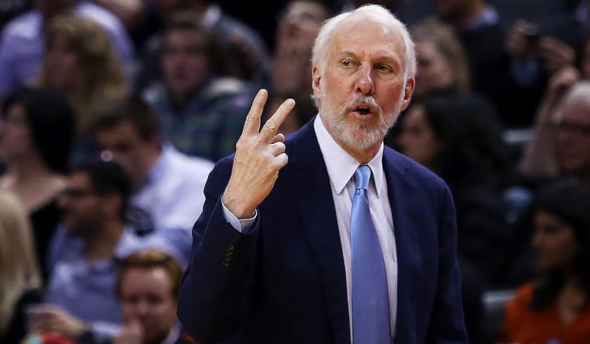
[[[194,343],[209,172],[259,88],[317,114],[315,35],[368,2],[416,44],[386,145],[452,190],[471,343],[590,343],[589,0],[1,0],[0,343]]]

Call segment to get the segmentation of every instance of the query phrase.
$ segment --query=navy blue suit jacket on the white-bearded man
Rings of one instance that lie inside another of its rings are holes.
[[[199,343],[350,344],[336,211],[313,121],[286,145],[289,163],[249,234],[223,217],[232,157],[209,175],[178,300]],[[388,147],[384,171],[398,251],[395,343],[467,343],[450,191]]]

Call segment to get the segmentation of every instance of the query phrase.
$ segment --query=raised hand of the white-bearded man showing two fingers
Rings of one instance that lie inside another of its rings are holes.
[[[268,98],[265,90],[258,91],[244,123],[244,130],[236,143],[232,175],[223,192],[223,204],[237,218],[251,218],[256,207],[264,201],[287,165],[284,135],[278,128],[295,106],[292,99],[285,100],[263,128],[261,114]]]

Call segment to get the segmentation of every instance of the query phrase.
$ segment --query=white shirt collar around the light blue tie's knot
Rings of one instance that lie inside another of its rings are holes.
[[[315,117],[313,128],[317,136],[317,143],[320,145],[320,150],[324,157],[330,183],[332,183],[334,190],[340,194],[350,179],[353,178],[360,162],[336,143],[332,135],[327,131],[319,115]],[[384,145],[381,143],[379,152],[367,164],[371,168],[377,198],[381,197],[384,186],[383,150]],[[326,157],[329,157],[329,159],[326,159]]]

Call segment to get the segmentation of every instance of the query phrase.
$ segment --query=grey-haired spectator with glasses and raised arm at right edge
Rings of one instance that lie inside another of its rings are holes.
[[[568,69],[553,78],[520,171],[532,178],[573,176],[590,185],[590,81]]]

